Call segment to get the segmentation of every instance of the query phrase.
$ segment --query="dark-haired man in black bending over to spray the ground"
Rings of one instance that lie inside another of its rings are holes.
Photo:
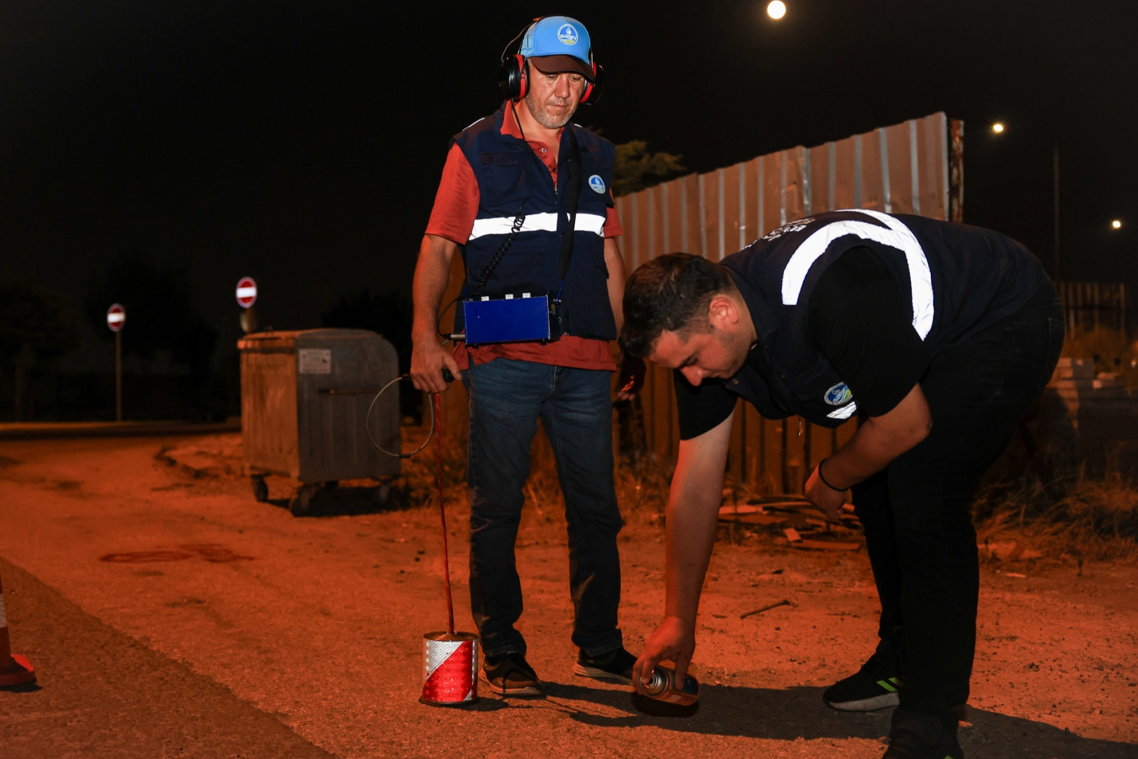
[[[852,488],[881,642],[823,698],[846,710],[899,698],[885,756],[959,759],[980,583],[970,506],[1063,344],[1039,262],[987,230],[840,211],[721,264],[655,258],[629,278],[624,313],[625,350],[675,370],[681,429],[665,620],[634,680],[665,658],[683,677],[695,649],[736,398],[768,419],[825,427],[858,413],[857,432],[819,462],[806,496],[836,518]]]

